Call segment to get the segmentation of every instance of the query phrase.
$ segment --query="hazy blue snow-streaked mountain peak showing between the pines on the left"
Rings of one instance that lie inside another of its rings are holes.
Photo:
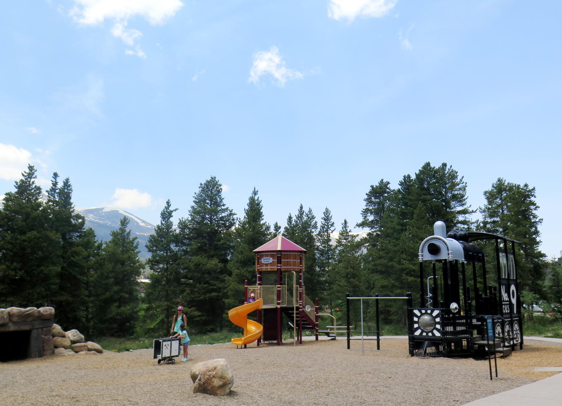
[[[111,231],[119,228],[119,222],[123,216],[129,218],[129,230],[131,236],[135,236],[139,241],[140,258],[149,258],[150,254],[144,245],[148,241],[148,236],[154,233],[154,225],[138,218],[134,214],[113,207],[91,207],[89,209],[76,210],[86,219],[86,228],[92,227],[96,233],[96,238],[108,241],[111,238]]]

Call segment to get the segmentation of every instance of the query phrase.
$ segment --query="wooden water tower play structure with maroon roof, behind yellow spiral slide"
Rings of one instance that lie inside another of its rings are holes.
[[[246,281],[244,303],[252,293],[256,300],[263,301],[257,314],[257,322],[264,326],[261,340],[281,344],[283,314],[295,324],[300,344],[303,329],[313,330],[318,340],[318,303],[306,296],[303,283],[306,250],[279,235],[253,252],[256,253],[257,285],[247,286]]]

